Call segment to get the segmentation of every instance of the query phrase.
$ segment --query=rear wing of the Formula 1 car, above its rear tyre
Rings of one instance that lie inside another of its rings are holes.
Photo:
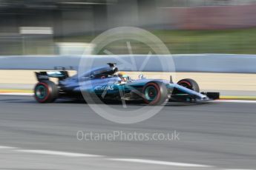
[[[38,81],[49,81],[49,78],[59,78],[59,81],[68,78],[67,71],[48,71],[48,72],[35,72]]]

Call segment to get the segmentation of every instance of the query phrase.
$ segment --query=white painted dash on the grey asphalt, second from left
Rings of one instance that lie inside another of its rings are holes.
[[[27,152],[33,154],[52,154],[65,157],[104,157],[102,155],[96,154],[81,154],[81,153],[72,153],[72,152],[59,152],[59,151],[49,151],[49,150],[15,150],[15,152]]]

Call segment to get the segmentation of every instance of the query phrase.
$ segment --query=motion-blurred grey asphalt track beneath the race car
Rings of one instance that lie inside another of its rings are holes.
[[[80,130],[177,131],[180,140],[79,141]],[[99,117],[85,103],[0,95],[0,169],[256,169],[255,160],[255,103],[165,106],[127,125]]]

